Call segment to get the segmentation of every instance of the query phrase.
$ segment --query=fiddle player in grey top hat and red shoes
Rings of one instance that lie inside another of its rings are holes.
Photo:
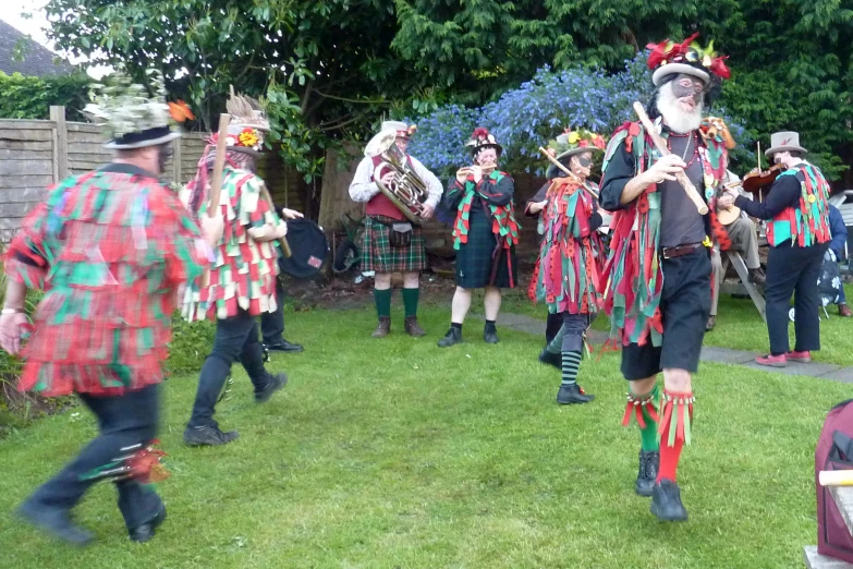
[[[819,168],[803,159],[795,132],[777,132],[766,150],[776,164],[787,168],[770,186],[767,198],[752,202],[730,192],[734,205],[758,219],[767,219],[767,331],[770,353],[756,362],[784,367],[789,361],[811,362],[820,349],[817,281],[824,254],[829,249],[829,184]],[[788,310],[794,294],[796,343],[789,351]]]

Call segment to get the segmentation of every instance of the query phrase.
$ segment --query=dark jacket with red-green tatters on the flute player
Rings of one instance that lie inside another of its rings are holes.
[[[471,229],[471,208],[482,207],[485,203],[491,214],[491,232],[495,233],[498,244],[503,249],[510,249],[519,243],[519,229],[515,221],[515,207],[512,203],[514,184],[507,172],[495,170],[489,175],[474,182],[468,177],[464,184],[455,178],[448,183],[446,199],[449,208],[456,210],[456,219],[453,222],[453,249],[468,242]]]

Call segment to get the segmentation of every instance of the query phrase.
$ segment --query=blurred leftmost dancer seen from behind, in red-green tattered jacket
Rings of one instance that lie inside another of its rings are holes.
[[[72,522],[71,509],[98,480],[115,482],[131,540],[150,540],[166,518],[148,484],[157,480],[157,451],[149,446],[157,435],[161,364],[176,289],[202,274],[222,231],[221,218],[203,216],[203,239],[159,180],[180,133],[170,130],[164,90],[156,81],[154,99],[122,77],[111,87],[118,90],[86,107],[107,123],[112,162],[52,187],[5,257],[0,346],[26,360],[20,388],[44,397],[77,394],[98,419],[98,436],[19,509],[27,521],[75,544],[92,536]],[[45,296],[22,347],[27,289]],[[131,457],[133,462],[125,460]]]

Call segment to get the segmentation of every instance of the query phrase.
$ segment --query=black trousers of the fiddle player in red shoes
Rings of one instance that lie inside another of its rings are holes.
[[[794,294],[794,350],[820,349],[820,298],[817,279],[828,243],[801,247],[779,245],[767,254],[767,332],[770,336],[770,353],[780,355],[789,351],[788,310]]]

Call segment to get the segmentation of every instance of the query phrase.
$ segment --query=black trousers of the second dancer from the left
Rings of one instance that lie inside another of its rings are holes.
[[[269,375],[264,367],[264,348],[258,341],[257,319],[245,311],[217,320],[214,351],[202,366],[198,391],[187,426],[218,426],[214,421],[216,403],[231,374],[231,364],[237,360],[252,379],[256,394],[267,387]]]

